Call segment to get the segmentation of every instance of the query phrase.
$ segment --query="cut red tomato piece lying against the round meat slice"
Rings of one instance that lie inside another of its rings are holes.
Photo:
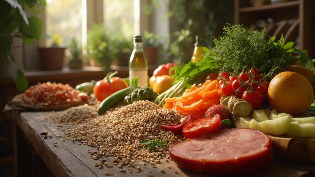
[[[197,138],[203,134],[216,132],[221,128],[220,115],[216,114],[211,118],[201,118],[188,123],[183,128],[185,138]]]

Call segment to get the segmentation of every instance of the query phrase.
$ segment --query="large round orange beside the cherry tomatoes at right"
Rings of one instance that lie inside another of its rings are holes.
[[[299,116],[314,100],[313,87],[299,73],[284,71],[272,78],[268,87],[268,103],[277,112]]]

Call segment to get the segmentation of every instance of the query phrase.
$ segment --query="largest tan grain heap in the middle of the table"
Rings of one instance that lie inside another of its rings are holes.
[[[161,125],[180,123],[183,118],[179,113],[160,108],[151,101],[136,101],[87,120],[65,134],[65,138],[96,147],[100,151],[96,158],[114,156],[117,166],[131,165],[135,163],[134,159],[160,163],[162,158],[169,158],[169,145],[185,140],[182,135],[165,131]],[[168,144],[148,151],[140,141],[151,139],[166,140]]]

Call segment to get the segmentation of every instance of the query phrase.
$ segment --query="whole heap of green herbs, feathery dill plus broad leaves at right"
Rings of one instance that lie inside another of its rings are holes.
[[[315,71],[307,52],[292,48],[294,42],[284,43],[283,35],[278,42],[275,42],[276,37],[266,41],[265,28],[248,30],[239,24],[228,25],[223,28],[223,36],[214,39],[215,47],[205,54],[206,58],[215,59],[221,71],[238,75],[244,70],[257,68],[271,80],[278,71],[286,70],[288,65],[299,60],[303,66]]]

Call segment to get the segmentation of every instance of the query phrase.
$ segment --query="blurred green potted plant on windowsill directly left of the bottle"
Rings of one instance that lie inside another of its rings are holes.
[[[115,56],[113,65],[128,66],[133,50],[132,38],[127,40],[124,36],[115,37],[112,40],[113,54]]]

